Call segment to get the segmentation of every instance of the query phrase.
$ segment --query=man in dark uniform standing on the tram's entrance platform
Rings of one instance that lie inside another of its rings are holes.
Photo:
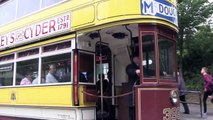
[[[139,68],[139,57],[137,55],[134,55],[132,57],[132,63],[129,64],[126,67],[126,73],[128,75],[128,83],[129,83],[129,89],[133,90],[134,89],[134,85],[139,84],[140,82],[140,68]],[[133,95],[129,95],[129,117],[130,120],[135,120],[135,106],[134,106],[134,99],[133,99]]]

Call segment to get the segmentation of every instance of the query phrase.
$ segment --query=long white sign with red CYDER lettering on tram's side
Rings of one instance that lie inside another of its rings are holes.
[[[0,49],[30,43],[70,31],[71,15],[64,13],[6,34],[0,34]]]

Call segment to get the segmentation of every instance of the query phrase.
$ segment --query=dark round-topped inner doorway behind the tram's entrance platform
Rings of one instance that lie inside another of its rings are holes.
[[[104,96],[112,96],[112,53],[107,44],[97,42],[96,44],[96,89],[97,94],[100,95],[101,83]],[[101,76],[102,75],[102,76]],[[103,82],[100,82],[102,80]],[[101,103],[102,102],[102,103]],[[114,119],[114,109],[112,107],[112,99],[98,98],[97,106],[97,120]],[[102,107],[102,108],[101,108]],[[101,109],[103,113],[100,114]]]

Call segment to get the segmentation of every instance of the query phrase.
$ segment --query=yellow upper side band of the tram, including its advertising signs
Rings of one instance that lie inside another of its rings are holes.
[[[162,24],[178,32],[176,0],[65,0],[0,26],[0,49],[16,40],[30,42],[87,28],[135,23]]]

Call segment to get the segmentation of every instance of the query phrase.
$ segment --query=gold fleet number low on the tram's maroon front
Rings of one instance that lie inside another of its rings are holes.
[[[180,120],[180,107],[164,108],[163,120]]]

